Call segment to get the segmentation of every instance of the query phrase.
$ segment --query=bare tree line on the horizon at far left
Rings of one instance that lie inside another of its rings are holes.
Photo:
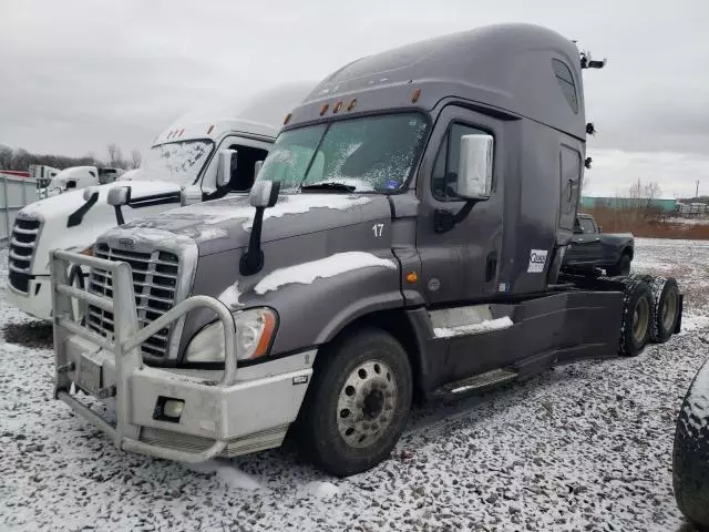
[[[71,166],[109,166],[114,168],[133,170],[143,162],[143,154],[133,150],[129,156],[123,155],[121,147],[111,143],[106,145],[105,157],[99,158],[93,153],[83,157],[68,157],[65,155],[31,153],[20,147],[17,150],[0,144],[0,170],[17,170],[27,172],[31,164],[44,164],[58,170]]]

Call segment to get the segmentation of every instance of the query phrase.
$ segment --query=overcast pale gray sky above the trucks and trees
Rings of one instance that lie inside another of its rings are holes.
[[[399,44],[494,22],[555,29],[585,71],[588,194],[637,178],[709,194],[709,2],[0,0],[0,144],[103,156],[145,150],[205,102],[319,80]]]

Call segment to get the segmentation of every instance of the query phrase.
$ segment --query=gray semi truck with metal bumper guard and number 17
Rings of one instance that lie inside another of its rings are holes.
[[[666,340],[674,280],[559,273],[593,66],[504,24],[336,71],[286,116],[248,197],[53,252],[55,397],[125,451],[196,462],[291,434],[346,475],[390,454],[414,400]]]

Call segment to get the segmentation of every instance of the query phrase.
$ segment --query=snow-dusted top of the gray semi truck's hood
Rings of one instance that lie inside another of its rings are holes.
[[[248,245],[255,213],[244,194],[165,211],[122,226],[121,234],[129,231],[140,237],[146,229],[168,231],[193,238],[205,256]],[[261,242],[383,217],[391,217],[391,208],[381,194],[282,194],[264,212]]]

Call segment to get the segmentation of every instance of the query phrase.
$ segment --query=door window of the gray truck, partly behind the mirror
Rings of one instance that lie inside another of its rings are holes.
[[[431,175],[431,191],[433,197],[440,202],[460,201],[456,194],[458,165],[461,155],[461,137],[463,135],[486,135],[485,131],[470,125],[453,123],[441,141],[441,147],[435,155],[433,174]]]

